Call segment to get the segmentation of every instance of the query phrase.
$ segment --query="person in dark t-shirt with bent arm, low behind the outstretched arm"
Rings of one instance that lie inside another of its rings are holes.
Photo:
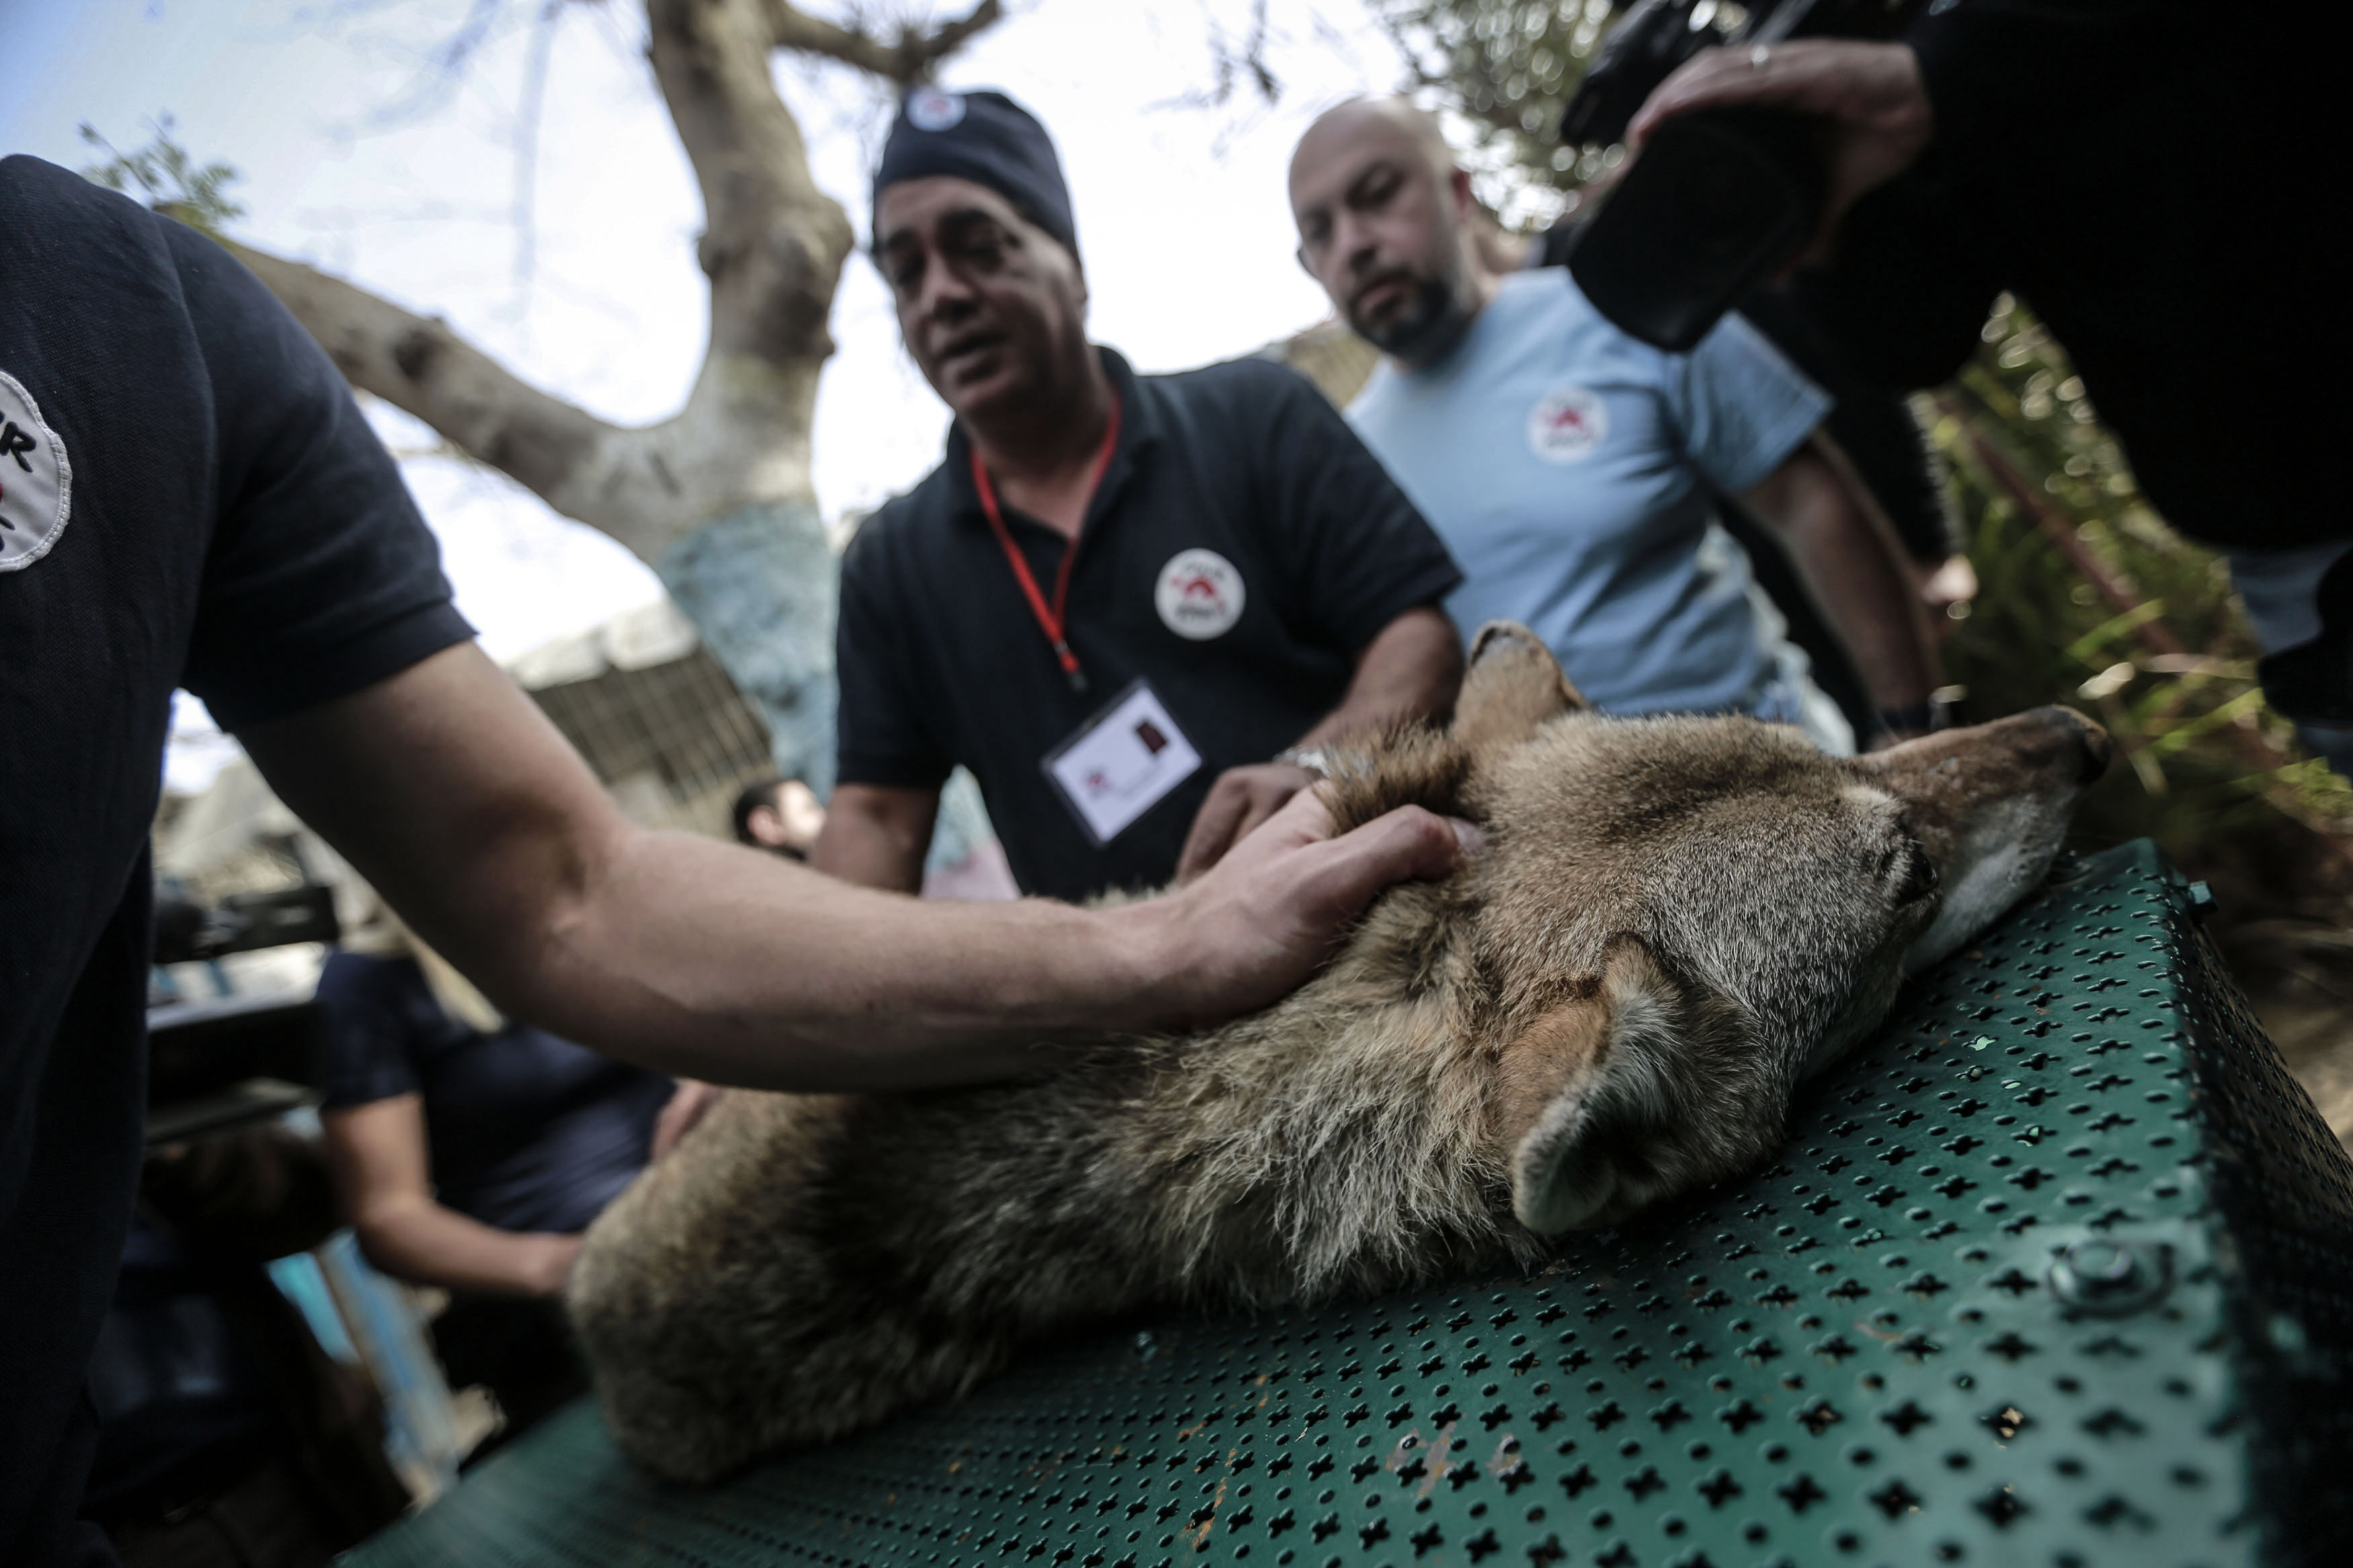
[[[318,978],[320,1124],[367,1260],[449,1291],[433,1352],[504,1415],[473,1462],[588,1389],[562,1312],[581,1232],[713,1091],[504,1018],[367,903]]]

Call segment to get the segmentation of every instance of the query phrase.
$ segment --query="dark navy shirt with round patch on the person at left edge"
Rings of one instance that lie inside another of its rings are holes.
[[[0,1563],[35,1568],[139,1178],[172,689],[242,729],[471,630],[344,378],[228,252],[33,158],[0,214]]]

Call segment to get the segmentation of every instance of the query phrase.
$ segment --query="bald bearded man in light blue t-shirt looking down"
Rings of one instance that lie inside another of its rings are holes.
[[[1499,277],[1468,172],[1402,99],[1322,115],[1289,195],[1301,266],[1386,355],[1348,418],[1464,564],[1459,625],[1527,623],[1605,712],[1748,712],[1831,752],[1934,726],[1904,552],[1821,435],[1828,395],[1753,327],[1666,355],[1560,268]],[[1814,682],[1718,496],[1788,543],[1868,682],[1871,733]]]

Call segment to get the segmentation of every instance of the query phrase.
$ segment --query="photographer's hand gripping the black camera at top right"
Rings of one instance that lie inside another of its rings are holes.
[[[1640,148],[1668,115],[1751,106],[1793,108],[1828,122],[1831,186],[1807,261],[1821,256],[1847,209],[1908,169],[1937,132],[1920,59],[1908,45],[1802,38],[1701,49],[1659,82],[1626,129],[1626,141]]]

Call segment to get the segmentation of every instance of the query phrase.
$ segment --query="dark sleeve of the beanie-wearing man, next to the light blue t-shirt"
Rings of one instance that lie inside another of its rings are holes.
[[[1405,611],[1454,592],[1454,557],[1339,409],[1289,367],[1238,369],[1254,383],[1245,435],[1292,576],[1285,614],[1355,654]]]

